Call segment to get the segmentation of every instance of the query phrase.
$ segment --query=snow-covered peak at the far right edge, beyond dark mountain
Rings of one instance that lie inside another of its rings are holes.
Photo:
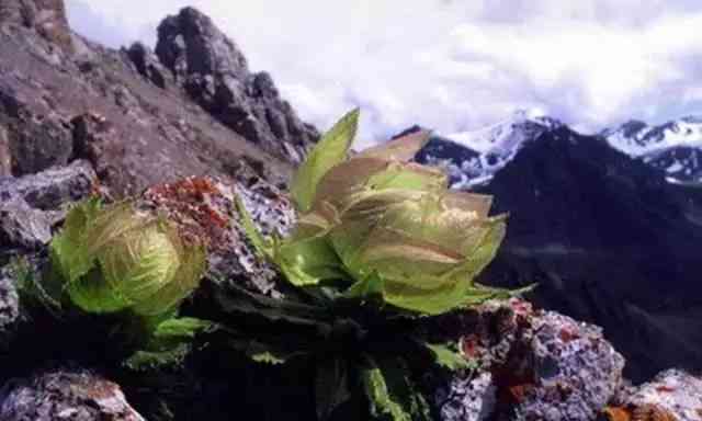
[[[702,182],[702,117],[658,126],[630,121],[601,135],[615,149],[664,170],[670,182]]]

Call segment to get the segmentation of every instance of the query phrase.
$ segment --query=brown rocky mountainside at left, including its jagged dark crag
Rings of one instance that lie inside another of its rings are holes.
[[[267,72],[192,8],[156,53],[72,32],[61,0],[0,2],[0,177],[87,159],[116,196],[253,168],[284,184],[316,141]]]

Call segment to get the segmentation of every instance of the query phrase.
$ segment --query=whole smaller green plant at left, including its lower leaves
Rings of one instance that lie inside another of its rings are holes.
[[[25,277],[24,292],[54,314],[73,308],[121,320],[123,338],[134,342],[129,366],[177,362],[194,334],[212,327],[177,317],[206,269],[205,247],[133,202],[103,205],[93,197],[77,204],[49,252],[50,270],[38,282]]]

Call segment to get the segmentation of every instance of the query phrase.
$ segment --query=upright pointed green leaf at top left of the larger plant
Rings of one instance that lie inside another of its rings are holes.
[[[344,115],[319,139],[297,170],[291,185],[291,194],[299,212],[310,209],[319,180],[329,169],[347,158],[347,152],[355,137],[359,114],[359,109],[355,109]]]

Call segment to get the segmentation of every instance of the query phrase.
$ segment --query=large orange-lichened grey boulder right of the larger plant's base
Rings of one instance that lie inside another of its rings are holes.
[[[438,389],[443,420],[592,420],[622,383],[624,359],[601,329],[525,301],[486,304],[460,329],[479,368]]]

